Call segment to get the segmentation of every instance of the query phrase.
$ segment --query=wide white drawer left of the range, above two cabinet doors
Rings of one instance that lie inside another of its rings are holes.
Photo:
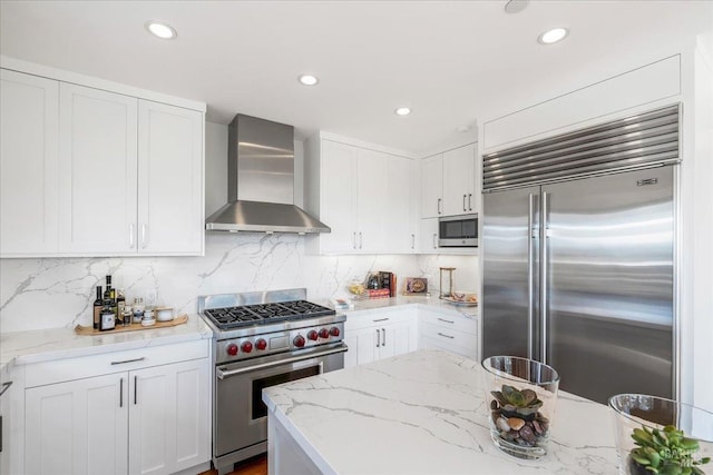
[[[208,345],[208,339],[201,339],[27,365],[26,387],[206,358]]]

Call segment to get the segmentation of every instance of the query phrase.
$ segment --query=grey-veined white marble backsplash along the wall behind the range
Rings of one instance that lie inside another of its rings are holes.
[[[0,331],[74,327],[91,323],[95,287],[111,275],[127,301],[157,291],[157,303],[195,313],[198,295],[305,287],[307,298],[346,296],[352,278],[388,270],[428,277],[438,290],[439,267],[456,267],[459,290],[479,288],[476,256],[314,256],[297,235],[206,235],[204,257],[110,257],[0,260]]]

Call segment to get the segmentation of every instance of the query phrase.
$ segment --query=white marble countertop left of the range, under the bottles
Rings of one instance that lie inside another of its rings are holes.
[[[0,334],[0,370],[11,365],[27,365],[53,359],[74,358],[107,352],[168,345],[212,338],[213,333],[197,314],[174,327],[101,335],[77,335],[72,328]]]

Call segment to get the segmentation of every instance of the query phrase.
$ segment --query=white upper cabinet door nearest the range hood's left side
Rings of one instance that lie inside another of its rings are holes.
[[[203,115],[139,100],[138,253],[202,254]]]

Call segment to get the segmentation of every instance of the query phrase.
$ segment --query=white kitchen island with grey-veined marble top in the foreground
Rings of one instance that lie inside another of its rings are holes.
[[[419,350],[263,390],[268,471],[283,474],[614,474],[608,407],[559,393],[549,453],[490,439],[479,362]]]

